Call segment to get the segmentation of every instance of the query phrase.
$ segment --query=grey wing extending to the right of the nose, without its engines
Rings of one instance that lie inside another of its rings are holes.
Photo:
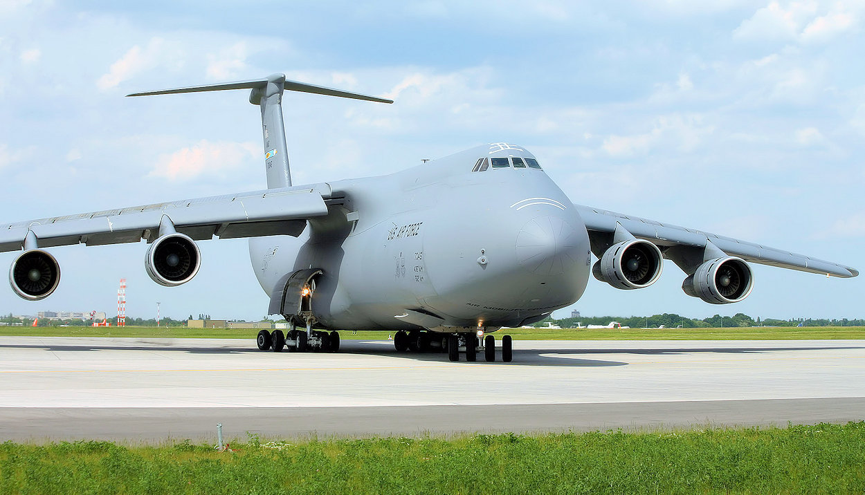
[[[755,244],[717,234],[642,219],[622,213],[609,212],[591,206],[574,205],[580,212],[593,251],[596,245],[609,244],[608,238],[616,232],[618,225],[630,232],[635,238],[642,238],[656,244],[668,257],[682,265],[688,257],[702,257],[707,244],[714,244],[728,256],[740,257],[747,262],[767,264],[791,270],[808,271],[827,276],[849,278],[858,276],[859,271],[849,266],[832,263],[790,251],[779,250],[762,244]],[[689,251],[692,251],[689,253]],[[597,251],[596,251],[597,254]],[[699,261],[697,262],[699,263]],[[693,263],[685,263],[693,264]]]

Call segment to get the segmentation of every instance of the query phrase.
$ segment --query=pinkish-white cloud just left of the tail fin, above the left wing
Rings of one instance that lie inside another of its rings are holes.
[[[162,155],[149,176],[164,177],[170,181],[189,181],[201,175],[223,175],[252,162],[260,155],[260,146],[254,143],[210,143],[204,139],[197,144]]]

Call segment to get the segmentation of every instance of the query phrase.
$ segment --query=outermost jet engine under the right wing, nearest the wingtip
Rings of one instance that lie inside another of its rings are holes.
[[[682,290],[712,304],[739,302],[751,294],[751,267],[740,257],[719,257],[702,263],[682,282]]]

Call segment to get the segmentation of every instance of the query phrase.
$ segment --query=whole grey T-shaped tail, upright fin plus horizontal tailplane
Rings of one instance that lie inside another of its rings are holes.
[[[261,106],[261,134],[265,143],[265,167],[267,188],[292,185],[292,173],[288,166],[288,146],[285,143],[285,123],[282,118],[282,92],[311,92],[339,98],[362,99],[378,103],[394,103],[392,99],[378,98],[356,92],[346,92],[324,86],[314,86],[285,79],[285,74],[271,74],[265,79],[253,79],[229,83],[187,86],[149,92],[133,92],[126,96],[151,96],[181,92],[221,91],[229,89],[251,89],[249,103]]]

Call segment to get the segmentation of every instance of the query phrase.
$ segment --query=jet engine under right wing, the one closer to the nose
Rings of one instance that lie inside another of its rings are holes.
[[[661,276],[663,262],[657,245],[643,239],[612,244],[592,267],[592,274],[616,289],[643,289]]]

